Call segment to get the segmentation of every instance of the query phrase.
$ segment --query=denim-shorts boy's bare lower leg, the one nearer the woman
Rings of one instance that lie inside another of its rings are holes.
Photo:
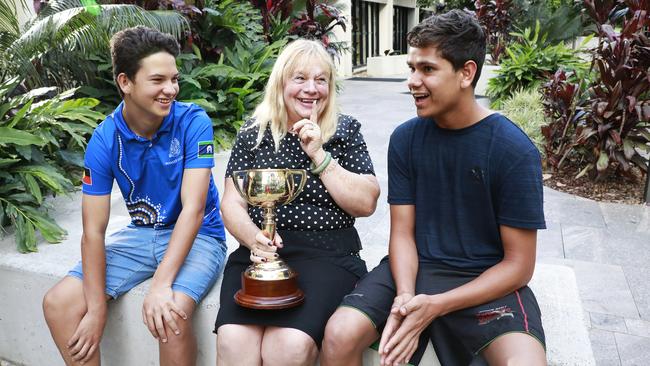
[[[174,301],[185,311],[187,320],[184,320],[176,313],[172,312],[172,317],[178,325],[180,334],[174,334],[174,331],[165,323],[165,332],[167,342],[158,342],[160,365],[161,366],[185,366],[196,365],[196,337],[192,327],[192,315],[196,304],[194,300],[186,294],[174,291]]]

